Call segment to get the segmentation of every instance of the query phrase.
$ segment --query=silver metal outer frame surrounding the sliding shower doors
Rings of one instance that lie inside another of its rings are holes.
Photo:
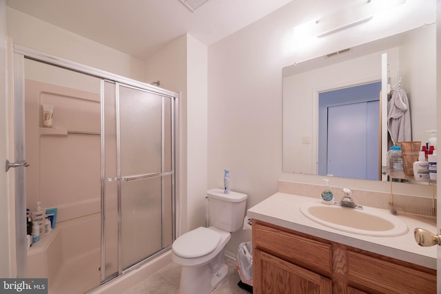
[[[122,83],[130,87],[135,87],[138,89],[145,90],[147,92],[152,92],[154,94],[159,94],[161,96],[170,97],[172,99],[172,239],[176,238],[176,132],[178,130],[178,120],[176,119],[178,114],[178,98],[179,95],[176,92],[154,87],[147,83],[142,83],[140,81],[135,81],[124,76],[119,76],[117,74],[112,74],[110,72],[105,72],[103,70],[98,70],[94,67],[88,65],[83,65],[81,63],[76,63],[74,61],[69,61],[68,59],[63,59],[58,56],[53,56],[45,52],[40,52],[38,50],[33,50],[22,45],[14,44],[14,148],[15,148],[15,161],[25,162],[25,139],[24,139],[24,82],[25,82],[25,71],[24,71],[24,60],[30,59],[33,61],[38,61],[48,65],[54,65],[57,67],[64,68],[66,70],[72,70],[74,72],[79,72],[81,74],[87,74],[89,76],[95,76],[101,79],[101,99],[103,99],[103,81],[114,81],[115,83]],[[101,111],[101,116],[103,112]],[[103,131],[103,129],[102,129]],[[103,138],[101,138],[103,140]],[[101,154],[104,153],[103,146],[101,149]],[[103,155],[101,155],[103,160]],[[30,162],[32,164],[32,162]],[[14,169],[15,171],[15,215],[16,215],[16,247],[17,247],[17,276],[26,277],[27,275],[27,246],[25,240],[25,211],[26,211],[26,196],[25,196],[25,165],[21,165]],[[101,170],[103,170],[103,162],[101,163]],[[101,269],[105,269],[105,211],[104,207],[104,193],[103,185],[105,184],[105,178],[103,178],[103,171],[101,172]],[[121,213],[121,212],[120,212]],[[23,234],[24,232],[24,234]],[[121,236],[120,236],[121,237]],[[121,242],[121,240],[119,240]],[[165,250],[165,249],[163,249]],[[161,253],[161,252],[160,252]],[[157,253],[157,254],[160,254]],[[119,271],[119,274],[126,273],[139,267],[139,265],[147,262],[156,255],[147,258],[132,266],[132,268],[123,271]],[[107,279],[108,280],[108,279]],[[105,271],[101,271],[101,283],[107,282],[105,279]]]

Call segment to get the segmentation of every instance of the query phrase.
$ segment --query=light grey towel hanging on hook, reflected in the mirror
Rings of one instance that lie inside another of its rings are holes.
[[[392,98],[389,101],[387,130],[393,145],[396,145],[398,142],[409,142],[412,140],[409,100],[407,99],[406,92],[401,88],[393,91]]]

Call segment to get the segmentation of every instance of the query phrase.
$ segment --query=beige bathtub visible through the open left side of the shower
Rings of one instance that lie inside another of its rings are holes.
[[[100,284],[101,216],[57,223],[28,249],[28,277],[47,277],[49,293],[83,293]]]

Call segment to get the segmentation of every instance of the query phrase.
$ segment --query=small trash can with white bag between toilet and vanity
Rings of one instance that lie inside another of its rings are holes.
[[[240,243],[236,253],[236,269],[239,273],[240,281],[238,286],[253,293],[253,255],[252,242]]]

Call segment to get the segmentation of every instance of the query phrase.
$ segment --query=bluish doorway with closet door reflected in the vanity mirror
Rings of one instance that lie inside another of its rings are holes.
[[[381,82],[318,94],[318,174],[380,179]]]

